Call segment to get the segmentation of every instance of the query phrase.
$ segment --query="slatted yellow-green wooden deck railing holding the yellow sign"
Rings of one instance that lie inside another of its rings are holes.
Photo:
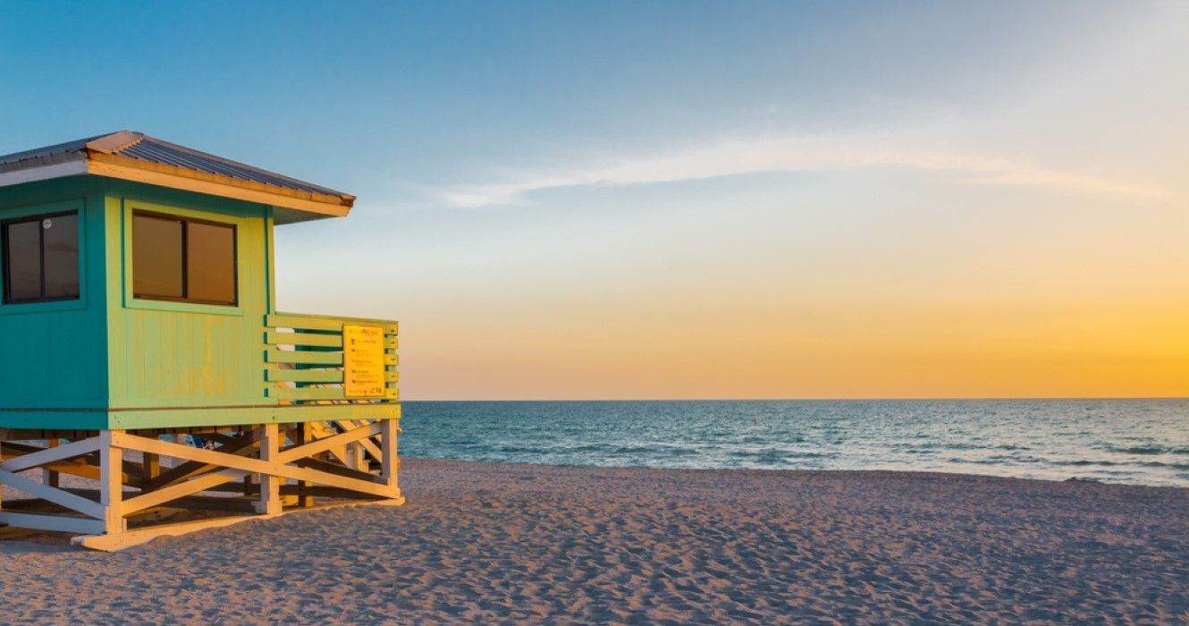
[[[275,313],[265,318],[264,326],[265,395],[278,403],[377,403],[400,397],[397,323]],[[359,393],[359,381],[348,381],[347,375],[375,377],[376,373],[353,365],[351,346],[344,349],[345,326],[351,327],[352,338],[359,332],[382,334],[383,371],[379,382],[364,393]]]

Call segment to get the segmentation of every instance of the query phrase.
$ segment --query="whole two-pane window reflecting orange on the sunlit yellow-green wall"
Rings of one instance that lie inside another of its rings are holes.
[[[133,213],[132,296],[235,306],[235,226]]]

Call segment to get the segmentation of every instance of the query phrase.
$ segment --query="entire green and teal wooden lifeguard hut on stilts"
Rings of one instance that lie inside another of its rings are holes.
[[[0,156],[0,525],[402,503],[397,324],[275,306],[273,226],[353,202],[131,131]]]

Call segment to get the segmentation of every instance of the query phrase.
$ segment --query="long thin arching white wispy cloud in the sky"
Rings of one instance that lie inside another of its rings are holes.
[[[1159,196],[1151,183],[1039,167],[1027,158],[962,154],[893,142],[853,138],[726,140],[680,152],[627,157],[603,164],[530,171],[504,181],[440,190],[455,207],[524,202],[534,192],[583,186],[672,183],[775,171],[904,169],[932,171],[970,184],[1018,184],[1096,195]]]

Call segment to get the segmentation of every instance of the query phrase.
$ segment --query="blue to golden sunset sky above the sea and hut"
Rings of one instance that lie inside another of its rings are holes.
[[[358,196],[279,308],[402,397],[1189,395],[1189,1],[0,0],[0,154]]]

